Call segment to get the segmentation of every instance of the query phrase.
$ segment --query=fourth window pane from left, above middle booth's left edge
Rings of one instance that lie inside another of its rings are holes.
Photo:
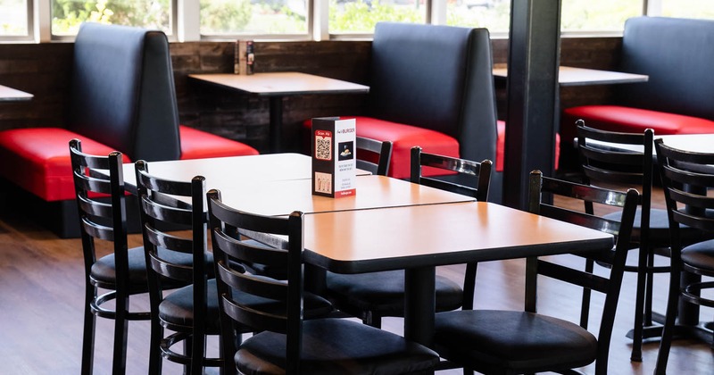
[[[425,0],[329,0],[330,34],[371,34],[378,21],[424,23]]]

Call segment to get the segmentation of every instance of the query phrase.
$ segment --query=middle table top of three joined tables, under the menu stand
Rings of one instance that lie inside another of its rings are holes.
[[[206,182],[211,188],[210,181]],[[262,215],[287,215],[294,211],[312,213],[365,210],[475,200],[470,196],[386,176],[358,176],[355,184],[357,194],[341,198],[313,196],[311,179],[263,181],[220,189],[220,193],[224,204]]]

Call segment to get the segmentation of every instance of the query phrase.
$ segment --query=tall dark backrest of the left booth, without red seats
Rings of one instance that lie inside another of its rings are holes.
[[[71,89],[68,129],[133,160],[179,158],[179,112],[161,31],[82,24]]]

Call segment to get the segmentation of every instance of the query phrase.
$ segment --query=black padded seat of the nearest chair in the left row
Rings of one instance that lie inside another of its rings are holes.
[[[236,356],[245,374],[285,373],[286,336],[262,332],[249,337]],[[355,321],[320,319],[303,322],[301,373],[412,373],[431,369],[438,356],[386,330]]]

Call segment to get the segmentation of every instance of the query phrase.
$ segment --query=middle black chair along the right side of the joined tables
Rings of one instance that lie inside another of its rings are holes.
[[[436,178],[424,177],[422,168],[438,168],[470,177],[472,186],[463,186]],[[449,156],[422,153],[411,149],[411,182],[436,187],[486,201],[491,176],[491,161],[471,162]],[[436,276],[436,311],[460,307],[472,308],[476,263],[468,264],[463,289],[444,276]],[[404,313],[404,271],[379,271],[358,274],[328,272],[326,296],[337,310],[361,318],[365,324],[381,327],[385,316],[402,317]]]

